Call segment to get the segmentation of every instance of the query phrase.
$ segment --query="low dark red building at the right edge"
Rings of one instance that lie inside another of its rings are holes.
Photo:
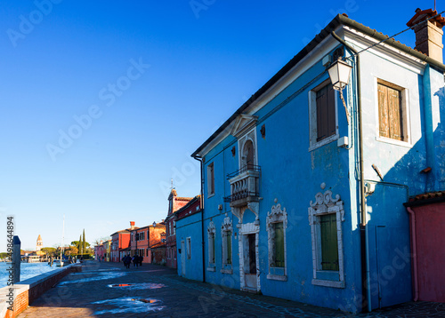
[[[445,302],[445,191],[417,195],[409,212],[414,300]]]

